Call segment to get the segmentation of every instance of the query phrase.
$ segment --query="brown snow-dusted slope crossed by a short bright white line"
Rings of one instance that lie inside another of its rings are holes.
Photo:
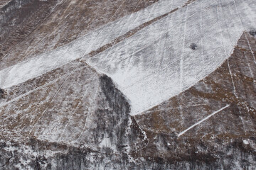
[[[181,160],[218,162],[220,157],[233,157],[232,148],[238,147],[247,152],[244,162],[225,160],[213,169],[254,169],[255,53],[256,37],[243,33],[233,54],[213,73],[178,96],[135,115],[149,143],[143,152],[134,154],[173,160],[182,153]],[[154,149],[157,152],[151,152]]]

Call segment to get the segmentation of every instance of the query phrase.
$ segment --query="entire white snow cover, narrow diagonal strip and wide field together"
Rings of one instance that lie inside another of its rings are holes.
[[[163,0],[94,30],[63,47],[0,71],[9,88],[81,58],[107,74],[129,98],[136,115],[176,96],[220,66],[242,31],[256,29],[255,0]],[[132,37],[88,58],[92,50],[178,8]],[[197,45],[196,50],[190,48]]]

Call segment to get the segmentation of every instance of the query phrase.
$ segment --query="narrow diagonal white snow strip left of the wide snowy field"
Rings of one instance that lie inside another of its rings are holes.
[[[173,3],[170,3],[169,0],[159,1],[137,13],[132,13],[129,16],[124,16],[117,21],[102,26],[84,37],[70,42],[68,45],[33,57],[33,59],[16,64],[14,67],[3,69],[0,71],[0,87],[3,89],[9,88],[78,58],[83,57],[86,59],[87,54],[93,50],[97,50],[115,38],[124,35],[129,30],[161,16],[185,2],[186,0],[175,0]]]

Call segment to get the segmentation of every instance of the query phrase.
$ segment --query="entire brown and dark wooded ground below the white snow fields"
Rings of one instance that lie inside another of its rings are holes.
[[[229,61],[215,72],[131,119],[126,99],[111,80],[78,60],[12,86],[2,99],[7,103],[0,113],[0,165],[253,169],[255,49],[256,39],[243,34]]]

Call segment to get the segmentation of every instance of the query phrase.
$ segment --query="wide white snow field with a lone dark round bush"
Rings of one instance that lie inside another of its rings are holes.
[[[171,1],[170,1],[171,4]],[[255,0],[198,0],[88,60],[129,98],[132,115],[193,86],[255,29]],[[197,49],[190,48],[196,43]]]

